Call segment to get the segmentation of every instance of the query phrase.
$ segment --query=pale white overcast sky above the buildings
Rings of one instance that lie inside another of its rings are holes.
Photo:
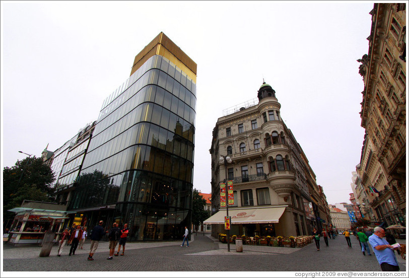
[[[133,59],[163,31],[197,63],[194,187],[211,192],[223,109],[276,91],[328,203],[359,164],[373,2],[1,2],[1,164],[55,151],[97,120]],[[2,179],[3,182],[3,179]]]

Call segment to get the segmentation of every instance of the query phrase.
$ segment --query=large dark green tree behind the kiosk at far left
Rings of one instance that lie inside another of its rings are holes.
[[[3,220],[13,219],[8,212],[20,206],[23,200],[52,201],[55,180],[51,168],[41,158],[27,157],[18,160],[13,167],[3,169]]]

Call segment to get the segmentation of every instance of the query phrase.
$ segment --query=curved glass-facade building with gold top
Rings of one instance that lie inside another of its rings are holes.
[[[172,240],[191,223],[196,65],[163,33],[141,53],[103,102],[67,209],[89,228],[128,223],[131,241]]]

